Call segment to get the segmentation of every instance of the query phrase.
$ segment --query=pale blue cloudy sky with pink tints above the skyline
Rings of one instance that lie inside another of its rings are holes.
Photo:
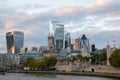
[[[5,34],[24,32],[24,47],[47,46],[49,21],[60,21],[72,40],[85,34],[96,48],[120,46],[120,0],[0,0],[0,52]]]

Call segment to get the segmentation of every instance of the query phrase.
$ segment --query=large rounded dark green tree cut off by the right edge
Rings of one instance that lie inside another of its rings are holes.
[[[120,68],[120,49],[115,50],[111,54],[109,61],[113,67]]]

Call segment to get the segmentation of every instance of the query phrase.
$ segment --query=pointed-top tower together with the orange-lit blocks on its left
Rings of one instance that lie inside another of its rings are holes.
[[[83,34],[81,38],[75,39],[73,50],[80,51],[82,56],[90,56],[90,53],[92,52],[91,40]]]

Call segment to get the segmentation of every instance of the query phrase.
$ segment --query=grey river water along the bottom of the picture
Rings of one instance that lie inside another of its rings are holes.
[[[6,73],[6,75],[0,75],[0,80],[119,80],[119,79],[75,75]]]

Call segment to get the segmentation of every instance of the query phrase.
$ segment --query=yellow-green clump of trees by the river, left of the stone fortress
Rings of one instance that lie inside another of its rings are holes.
[[[55,57],[46,57],[41,60],[34,60],[34,58],[28,58],[23,64],[24,67],[29,67],[31,70],[45,70],[55,66],[57,59]]]

